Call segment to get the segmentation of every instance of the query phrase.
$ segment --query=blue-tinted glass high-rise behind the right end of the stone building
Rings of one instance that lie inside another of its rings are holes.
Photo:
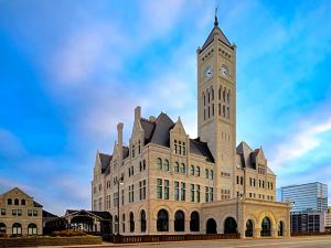
[[[328,185],[307,183],[280,187],[279,200],[292,203],[291,212],[325,212],[328,211]]]

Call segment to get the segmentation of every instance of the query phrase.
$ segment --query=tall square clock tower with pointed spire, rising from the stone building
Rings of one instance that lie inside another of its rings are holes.
[[[207,142],[215,160],[215,200],[225,193],[236,197],[236,45],[218,28],[216,15],[196,58],[197,136]]]

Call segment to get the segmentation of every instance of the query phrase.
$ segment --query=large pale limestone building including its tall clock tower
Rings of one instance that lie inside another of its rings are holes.
[[[180,118],[146,119],[137,107],[128,147],[118,123],[113,153],[96,154],[93,211],[108,211],[122,235],[288,237],[289,205],[276,202],[263,149],[236,147],[236,45],[216,17],[196,60],[199,137]]]

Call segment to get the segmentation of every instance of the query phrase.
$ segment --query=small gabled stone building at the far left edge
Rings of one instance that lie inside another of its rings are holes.
[[[0,233],[8,236],[42,235],[42,208],[18,187],[0,195]]]

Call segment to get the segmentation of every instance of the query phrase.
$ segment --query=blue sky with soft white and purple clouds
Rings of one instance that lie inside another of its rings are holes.
[[[195,138],[195,51],[215,4],[0,0],[0,192],[89,208],[96,151],[113,151],[119,121],[128,142],[137,105]],[[278,186],[331,184],[331,2],[218,4],[237,44],[237,142],[264,148]]]

